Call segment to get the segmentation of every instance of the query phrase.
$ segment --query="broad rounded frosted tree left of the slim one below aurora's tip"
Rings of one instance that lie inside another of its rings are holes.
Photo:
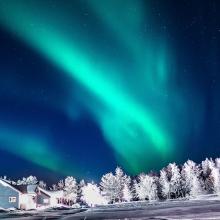
[[[134,183],[134,189],[136,197],[140,200],[156,200],[157,197],[157,185],[155,177],[146,174],[140,174],[138,176],[138,182]]]

